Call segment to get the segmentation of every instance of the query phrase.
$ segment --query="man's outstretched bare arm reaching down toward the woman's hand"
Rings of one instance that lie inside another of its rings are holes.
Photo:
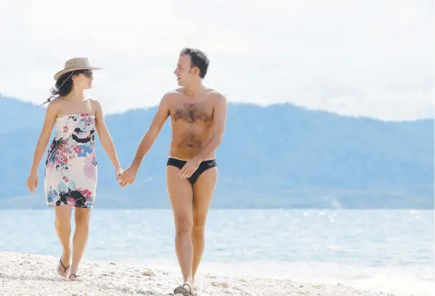
[[[156,115],[154,115],[151,125],[149,126],[144,137],[142,137],[139,146],[137,147],[137,151],[134,155],[131,167],[139,168],[142,159],[144,159],[145,154],[148,153],[149,149],[151,149],[151,146],[153,146],[153,143],[154,141],[156,141],[158,133],[168,119],[170,106],[168,101],[170,99],[170,95],[170,93],[165,94],[165,96],[163,96],[163,98],[160,100]]]

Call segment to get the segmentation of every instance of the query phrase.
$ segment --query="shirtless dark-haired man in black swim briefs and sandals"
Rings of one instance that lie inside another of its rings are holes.
[[[174,73],[180,86],[166,93],[137,148],[134,160],[120,177],[132,184],[142,159],[171,116],[172,140],[166,183],[175,219],[175,249],[183,285],[174,293],[196,295],[194,278],[204,250],[204,228],[217,181],[216,149],[227,122],[227,99],[203,85],[209,60],[198,49],[182,49]]]

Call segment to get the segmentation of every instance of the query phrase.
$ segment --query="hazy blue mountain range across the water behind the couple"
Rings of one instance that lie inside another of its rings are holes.
[[[106,116],[128,166],[156,108]],[[37,194],[25,180],[45,108],[0,95],[0,208],[44,208],[44,161]],[[134,185],[115,182],[101,148],[96,208],[166,208],[170,122],[144,159]],[[215,208],[434,208],[434,120],[384,122],[289,104],[229,104],[217,152]]]

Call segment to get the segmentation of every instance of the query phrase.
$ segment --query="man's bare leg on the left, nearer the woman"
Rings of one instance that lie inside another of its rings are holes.
[[[189,180],[179,176],[179,168],[166,166],[166,185],[175,221],[175,249],[184,283],[192,283],[194,249],[191,242],[193,225],[193,191]]]

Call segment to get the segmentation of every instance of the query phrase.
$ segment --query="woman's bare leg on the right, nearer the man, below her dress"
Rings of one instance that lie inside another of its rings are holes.
[[[70,280],[75,280],[76,276],[78,276],[77,271],[89,236],[90,216],[91,209],[75,208],[75,233],[73,238],[73,260],[71,261]]]

